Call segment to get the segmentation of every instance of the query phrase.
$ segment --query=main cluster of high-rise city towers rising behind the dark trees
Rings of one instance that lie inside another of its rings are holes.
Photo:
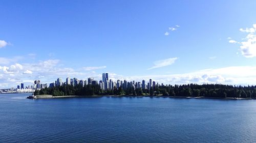
[[[114,88],[119,89],[120,87],[122,89],[127,89],[127,88],[134,88],[134,89],[150,89],[155,88],[160,86],[158,83],[156,83],[155,81],[152,81],[152,79],[149,80],[149,82],[145,82],[145,80],[142,80],[142,82],[135,82],[133,81],[126,81],[126,80],[117,80],[117,81],[113,81],[112,79],[109,79],[109,74],[108,73],[102,73],[102,80],[100,80],[98,82],[98,80],[94,80],[94,78],[89,77],[88,80],[79,80],[77,78],[70,78],[67,77],[66,78],[66,82],[62,81],[62,78],[57,78],[57,80],[55,80],[55,82],[50,83],[49,87],[55,87],[55,86],[61,86],[62,84],[66,84],[66,85],[87,85],[87,84],[92,84],[92,85],[96,85],[99,84],[100,88],[102,90],[113,90]],[[163,83],[161,84],[163,85]]]

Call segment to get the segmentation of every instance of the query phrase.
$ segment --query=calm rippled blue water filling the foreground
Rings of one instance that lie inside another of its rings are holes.
[[[255,142],[256,100],[0,94],[0,142]]]

